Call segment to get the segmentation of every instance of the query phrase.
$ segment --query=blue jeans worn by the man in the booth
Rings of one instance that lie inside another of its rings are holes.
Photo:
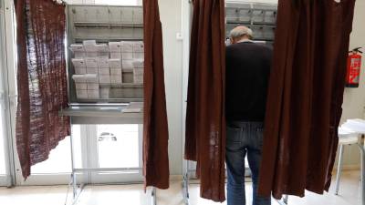
[[[270,205],[270,198],[257,196],[258,173],[263,144],[262,122],[227,122],[225,160],[227,205],[245,205],[245,154],[252,173],[253,205]]]

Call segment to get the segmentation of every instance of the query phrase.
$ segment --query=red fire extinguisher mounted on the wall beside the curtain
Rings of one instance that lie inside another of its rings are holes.
[[[359,87],[362,54],[360,48],[349,51],[346,87]]]

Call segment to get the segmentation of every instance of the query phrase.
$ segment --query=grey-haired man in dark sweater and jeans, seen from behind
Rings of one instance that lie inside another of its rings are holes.
[[[226,47],[226,147],[227,205],[245,205],[245,155],[253,181],[253,205],[270,205],[257,196],[263,145],[266,95],[272,49],[252,41],[253,32],[237,26]]]

